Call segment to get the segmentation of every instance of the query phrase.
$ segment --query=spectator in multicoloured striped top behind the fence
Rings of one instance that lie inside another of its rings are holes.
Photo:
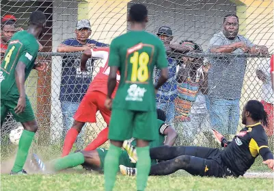
[[[192,40],[184,40],[180,42],[182,47],[187,51],[195,51],[202,53],[202,48]],[[183,55],[181,58],[183,66],[178,71],[178,97],[175,99],[175,118],[174,125],[178,132],[183,132],[184,144],[193,142],[193,138],[197,133],[197,122],[191,123],[191,107],[195,102],[197,93],[202,86],[201,76],[203,75],[202,57],[191,57]],[[206,107],[206,106],[205,106]],[[193,120],[197,120],[197,116]],[[182,144],[182,142],[181,142]]]

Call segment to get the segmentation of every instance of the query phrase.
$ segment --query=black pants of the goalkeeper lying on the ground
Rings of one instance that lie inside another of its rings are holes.
[[[207,147],[169,147],[150,149],[152,160],[164,160],[151,166],[150,175],[170,175],[179,169],[191,175],[208,177],[232,176],[221,160],[221,150]]]

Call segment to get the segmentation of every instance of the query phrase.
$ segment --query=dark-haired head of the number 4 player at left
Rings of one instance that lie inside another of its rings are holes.
[[[42,37],[46,27],[46,16],[42,11],[37,10],[31,13],[31,16],[29,16],[29,27],[36,33],[37,38]]]

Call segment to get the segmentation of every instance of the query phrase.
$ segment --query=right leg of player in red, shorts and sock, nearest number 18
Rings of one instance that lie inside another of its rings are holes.
[[[96,92],[97,99],[96,99],[96,105],[98,107],[98,110],[102,114],[102,118],[104,118],[107,125],[109,125],[109,120],[111,118],[111,111],[107,110],[105,107],[105,100],[107,99],[107,95],[103,94],[102,92]],[[107,136],[109,135],[109,127],[105,127],[105,129],[102,129],[100,133],[98,133],[98,136],[85,147],[84,151],[92,151],[98,147],[100,147],[102,144],[104,144],[109,138]]]

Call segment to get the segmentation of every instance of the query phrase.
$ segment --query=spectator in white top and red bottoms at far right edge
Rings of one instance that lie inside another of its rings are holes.
[[[266,58],[261,58],[260,60],[260,65],[258,66],[256,70],[256,75],[258,79],[262,81],[262,105],[264,105],[264,110],[267,113],[267,118],[269,121],[269,124],[267,127],[264,127],[266,131],[267,136],[272,136],[273,135],[273,104],[274,104],[274,93],[271,85],[271,74],[269,73],[270,71],[270,59],[268,60],[269,62],[266,61]]]

